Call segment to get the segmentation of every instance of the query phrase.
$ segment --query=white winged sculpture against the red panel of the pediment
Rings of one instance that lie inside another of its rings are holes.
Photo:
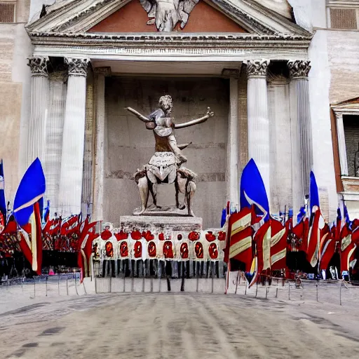
[[[156,25],[158,31],[171,32],[178,22],[183,29],[189,14],[199,0],[140,0],[149,16],[147,25]]]

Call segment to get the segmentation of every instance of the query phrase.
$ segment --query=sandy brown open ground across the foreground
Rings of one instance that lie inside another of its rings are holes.
[[[12,297],[0,304],[1,358],[359,358],[359,313],[338,304],[243,294]]]

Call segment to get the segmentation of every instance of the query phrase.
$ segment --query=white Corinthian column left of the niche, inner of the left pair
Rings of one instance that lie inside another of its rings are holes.
[[[81,212],[88,59],[65,58],[67,96],[59,190],[62,217]]]

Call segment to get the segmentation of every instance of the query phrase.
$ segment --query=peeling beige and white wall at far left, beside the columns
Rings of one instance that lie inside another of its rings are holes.
[[[27,145],[26,130],[20,129],[29,115],[30,72],[26,58],[32,54],[32,47],[24,27],[29,3],[16,1],[15,22],[0,23],[0,158],[4,160],[6,199],[11,203],[24,170],[22,149]]]

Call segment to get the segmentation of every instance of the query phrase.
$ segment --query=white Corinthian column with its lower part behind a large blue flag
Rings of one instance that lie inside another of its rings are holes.
[[[262,175],[271,203],[269,180],[269,113],[266,74],[269,60],[250,60],[248,74],[248,159],[253,158]]]

